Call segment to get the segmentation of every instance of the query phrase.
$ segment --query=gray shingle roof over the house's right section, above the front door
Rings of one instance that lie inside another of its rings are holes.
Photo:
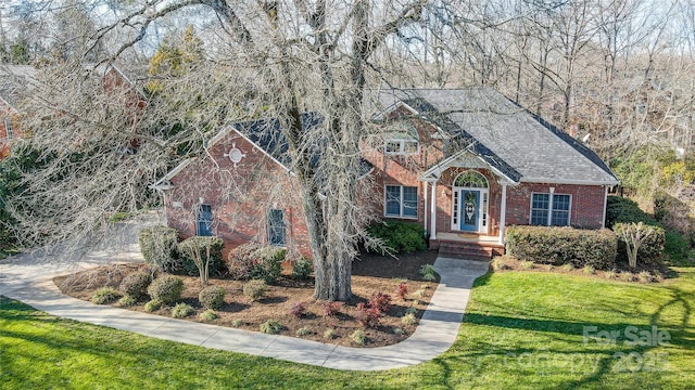
[[[522,182],[618,184],[589,147],[490,88],[389,90],[383,108],[403,102],[451,140],[445,155],[468,148]]]

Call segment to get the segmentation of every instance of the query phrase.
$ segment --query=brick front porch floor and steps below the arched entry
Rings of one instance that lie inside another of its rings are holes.
[[[504,255],[504,244],[497,236],[472,233],[437,233],[430,238],[430,249],[439,249],[439,256],[453,259],[490,261]]]

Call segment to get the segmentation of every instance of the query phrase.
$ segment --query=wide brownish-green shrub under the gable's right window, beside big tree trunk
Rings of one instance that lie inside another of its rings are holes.
[[[233,280],[264,280],[275,283],[282,272],[286,250],[274,246],[244,244],[229,252],[227,269]]]

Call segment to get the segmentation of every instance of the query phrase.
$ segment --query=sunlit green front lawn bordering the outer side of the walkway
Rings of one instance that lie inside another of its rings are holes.
[[[161,341],[0,298],[0,388],[682,389],[695,382],[695,270],[678,271],[678,278],[652,285],[489,274],[477,281],[447,353],[379,373]],[[670,336],[668,343],[650,342],[653,330]],[[584,333],[610,332],[619,335],[615,343],[584,342]]]

